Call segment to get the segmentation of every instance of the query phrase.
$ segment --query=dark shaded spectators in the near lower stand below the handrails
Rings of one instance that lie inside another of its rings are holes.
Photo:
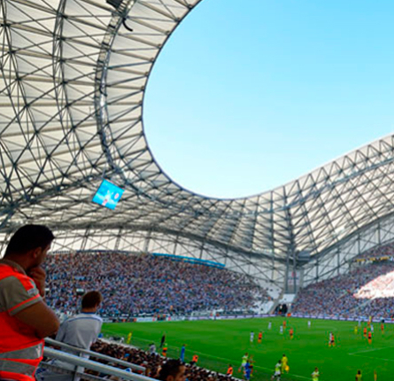
[[[113,343],[108,343],[103,340],[97,342],[91,347],[91,350],[99,354],[106,354],[116,359],[130,362],[135,365],[142,365],[145,369],[145,375],[152,378],[157,378],[159,370],[166,359],[158,354],[151,354],[130,346],[121,346]],[[103,362],[98,359],[92,360]],[[223,369],[225,371],[226,369]],[[92,373],[92,372],[90,372]],[[232,377],[224,376],[212,370],[200,368],[196,365],[186,364],[186,375],[188,381],[229,381]]]

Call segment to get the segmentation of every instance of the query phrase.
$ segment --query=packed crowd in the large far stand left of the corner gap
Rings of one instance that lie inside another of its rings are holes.
[[[102,292],[103,316],[251,310],[268,299],[250,276],[151,254],[53,254],[45,270],[48,304],[67,315],[79,308],[79,290]]]

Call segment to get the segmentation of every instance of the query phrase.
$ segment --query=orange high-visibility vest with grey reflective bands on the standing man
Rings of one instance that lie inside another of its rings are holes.
[[[18,278],[27,292],[35,290],[33,279],[8,264],[0,263],[0,284],[6,285],[10,276]],[[37,292],[32,292],[31,299],[0,312],[0,378],[35,381],[35,370],[42,361],[43,339],[37,338],[35,330],[20,322],[12,311],[39,298]]]

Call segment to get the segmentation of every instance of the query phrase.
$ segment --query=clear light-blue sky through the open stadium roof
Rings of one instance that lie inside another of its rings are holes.
[[[190,191],[249,196],[393,131],[394,2],[204,0],[158,57],[154,157]]]

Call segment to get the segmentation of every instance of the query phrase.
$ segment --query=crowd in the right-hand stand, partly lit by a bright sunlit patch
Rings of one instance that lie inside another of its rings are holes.
[[[388,319],[394,313],[394,262],[376,261],[300,292],[292,313]]]

